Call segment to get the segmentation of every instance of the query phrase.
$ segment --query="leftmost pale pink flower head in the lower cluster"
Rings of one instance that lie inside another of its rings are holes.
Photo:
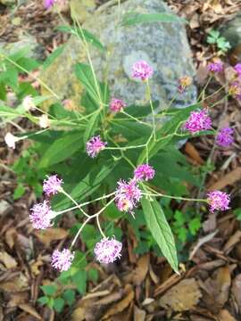
[[[37,203],[30,211],[29,219],[34,228],[45,229],[51,226],[51,219],[53,218],[54,212],[51,210],[48,202]]]

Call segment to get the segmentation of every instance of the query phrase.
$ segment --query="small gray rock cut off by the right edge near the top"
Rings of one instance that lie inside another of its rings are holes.
[[[238,13],[234,19],[226,22],[220,28],[220,32],[223,37],[226,37],[233,48],[241,45],[241,13]]]

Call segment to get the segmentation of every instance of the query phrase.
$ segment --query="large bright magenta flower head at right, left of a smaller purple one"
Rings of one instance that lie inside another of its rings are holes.
[[[200,130],[208,130],[212,128],[212,119],[209,117],[208,112],[203,111],[192,111],[184,128],[187,129],[191,134],[195,134]]]

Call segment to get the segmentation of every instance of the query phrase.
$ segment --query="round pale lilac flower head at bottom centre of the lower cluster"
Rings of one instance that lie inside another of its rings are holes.
[[[120,251],[122,249],[122,243],[116,241],[114,238],[109,240],[108,237],[103,238],[101,242],[96,243],[94,252],[96,254],[96,259],[100,263],[112,263],[116,259],[120,259]]]

